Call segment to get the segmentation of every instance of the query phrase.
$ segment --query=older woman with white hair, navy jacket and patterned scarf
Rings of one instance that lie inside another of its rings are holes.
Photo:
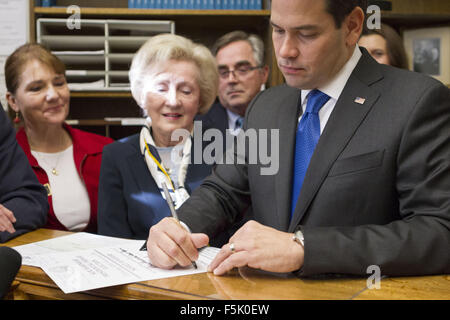
[[[147,125],[104,148],[98,232],[147,239],[150,227],[170,216],[163,183],[178,208],[211,173],[211,164],[191,161],[197,150],[192,134],[194,117],[216,98],[218,72],[205,46],[162,34],[142,45],[129,77]]]

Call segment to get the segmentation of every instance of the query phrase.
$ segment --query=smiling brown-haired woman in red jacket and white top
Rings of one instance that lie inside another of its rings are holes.
[[[17,48],[5,63],[6,99],[22,116],[16,138],[46,188],[46,228],[97,232],[103,147],[113,140],[65,123],[70,92],[64,64],[40,44]],[[15,121],[17,122],[17,120]]]

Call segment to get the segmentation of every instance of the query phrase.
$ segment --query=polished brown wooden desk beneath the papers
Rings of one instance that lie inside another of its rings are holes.
[[[68,232],[39,229],[3,245],[14,247],[51,239]],[[272,275],[249,268],[226,276],[200,273],[128,285],[64,294],[40,269],[22,266],[13,283],[13,299],[187,299],[187,300],[350,300],[350,299],[450,299],[450,276],[386,278],[381,289],[369,290],[366,279],[303,280]]]

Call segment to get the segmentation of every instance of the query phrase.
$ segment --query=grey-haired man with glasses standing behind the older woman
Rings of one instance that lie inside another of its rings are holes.
[[[248,105],[267,82],[269,67],[264,65],[264,43],[256,34],[233,31],[220,37],[212,52],[219,70],[219,101],[197,119],[237,135]]]

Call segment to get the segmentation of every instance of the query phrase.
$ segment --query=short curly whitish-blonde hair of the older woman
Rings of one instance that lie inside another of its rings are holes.
[[[206,113],[217,96],[219,75],[215,59],[204,45],[174,34],[151,37],[133,57],[128,73],[133,98],[144,109],[145,76],[149,71],[163,69],[169,60],[191,61],[198,67],[197,81],[200,87],[198,113]]]

